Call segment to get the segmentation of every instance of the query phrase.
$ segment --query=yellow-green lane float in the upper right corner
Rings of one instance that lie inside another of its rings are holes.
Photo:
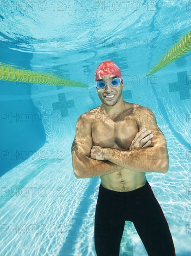
[[[161,59],[160,61],[146,74],[151,75],[159,71],[161,68],[166,67],[171,62],[177,60],[182,55],[191,50],[191,31],[185,34],[182,39],[176,43]]]

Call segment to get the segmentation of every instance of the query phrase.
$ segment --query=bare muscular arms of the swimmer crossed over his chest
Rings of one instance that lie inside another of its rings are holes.
[[[135,172],[166,173],[169,167],[166,139],[159,129],[153,112],[146,107],[138,111],[139,131],[152,130],[152,146],[131,150],[93,146],[89,115],[80,115],[76,122],[76,136],[72,143],[72,165],[76,178],[107,175],[127,168]]]

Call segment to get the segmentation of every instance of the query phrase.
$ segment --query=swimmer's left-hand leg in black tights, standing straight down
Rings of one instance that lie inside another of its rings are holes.
[[[96,204],[94,240],[97,256],[119,256],[125,225],[122,203],[99,195]]]

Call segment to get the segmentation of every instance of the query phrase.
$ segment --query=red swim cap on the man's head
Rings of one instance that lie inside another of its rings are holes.
[[[113,61],[103,61],[96,69],[94,79],[100,79],[105,74],[114,74],[121,78],[121,70]],[[123,79],[121,79],[123,84]]]

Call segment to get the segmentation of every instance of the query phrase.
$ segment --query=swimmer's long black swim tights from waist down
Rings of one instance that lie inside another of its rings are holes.
[[[147,181],[128,192],[100,183],[94,225],[97,256],[119,256],[125,221],[134,223],[148,256],[176,256],[168,223]]]

